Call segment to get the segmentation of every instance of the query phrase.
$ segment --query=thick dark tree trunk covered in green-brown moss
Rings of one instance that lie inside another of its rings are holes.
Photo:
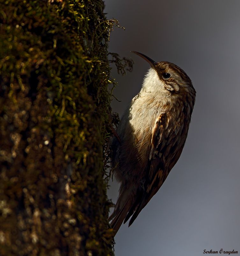
[[[111,255],[102,0],[0,1],[0,255]]]

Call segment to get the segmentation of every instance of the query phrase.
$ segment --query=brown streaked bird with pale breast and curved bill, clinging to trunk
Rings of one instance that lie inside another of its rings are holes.
[[[177,163],[187,138],[196,91],[177,65],[150,64],[140,92],[131,100],[113,137],[112,170],[120,182],[109,221],[113,236],[122,222],[130,226],[156,194]]]

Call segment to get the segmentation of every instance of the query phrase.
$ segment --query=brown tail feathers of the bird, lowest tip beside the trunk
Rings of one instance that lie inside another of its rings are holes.
[[[109,221],[112,220],[112,222],[110,223],[110,226],[114,229],[114,236],[118,232],[123,220],[127,216],[129,209],[131,208],[131,201],[132,200],[129,197],[121,208],[117,207],[118,204],[116,204],[116,207],[112,215],[108,219]]]

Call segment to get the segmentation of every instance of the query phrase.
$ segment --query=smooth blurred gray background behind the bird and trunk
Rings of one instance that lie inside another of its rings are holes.
[[[123,77],[113,67],[113,111],[121,116],[149,68],[130,51],[177,64],[197,91],[183,153],[133,225],[121,226],[115,255],[240,253],[240,2],[105,0],[105,12],[126,28],[114,28],[109,51],[135,61]],[[108,194],[116,202],[116,183]]]

